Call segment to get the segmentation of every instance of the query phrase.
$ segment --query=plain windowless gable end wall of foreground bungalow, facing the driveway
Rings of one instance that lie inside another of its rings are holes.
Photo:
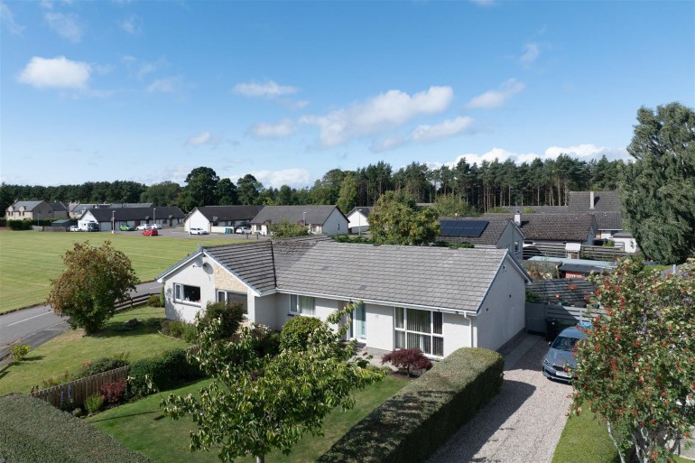
[[[475,347],[496,350],[524,329],[524,301],[524,277],[505,259],[477,314]]]

